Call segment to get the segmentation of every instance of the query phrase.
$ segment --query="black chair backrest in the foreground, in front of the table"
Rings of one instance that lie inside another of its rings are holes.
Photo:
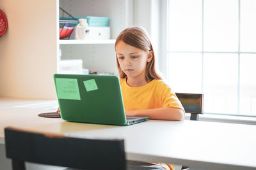
[[[76,169],[125,169],[123,139],[82,139],[4,129],[6,157],[13,170],[35,162]]]

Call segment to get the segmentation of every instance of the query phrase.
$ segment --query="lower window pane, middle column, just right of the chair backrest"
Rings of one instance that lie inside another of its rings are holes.
[[[237,73],[237,54],[204,54],[205,113],[237,113]]]

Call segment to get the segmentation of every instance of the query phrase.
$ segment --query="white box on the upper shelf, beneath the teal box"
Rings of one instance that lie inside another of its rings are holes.
[[[110,39],[110,27],[88,27],[86,39]]]

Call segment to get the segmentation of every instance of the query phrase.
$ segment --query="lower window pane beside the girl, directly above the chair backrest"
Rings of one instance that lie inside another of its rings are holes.
[[[201,93],[202,54],[170,53],[168,56],[170,87],[180,93]]]

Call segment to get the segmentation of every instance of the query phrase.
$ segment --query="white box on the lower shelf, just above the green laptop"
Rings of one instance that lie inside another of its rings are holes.
[[[83,60],[60,60],[61,74],[82,74]]]

